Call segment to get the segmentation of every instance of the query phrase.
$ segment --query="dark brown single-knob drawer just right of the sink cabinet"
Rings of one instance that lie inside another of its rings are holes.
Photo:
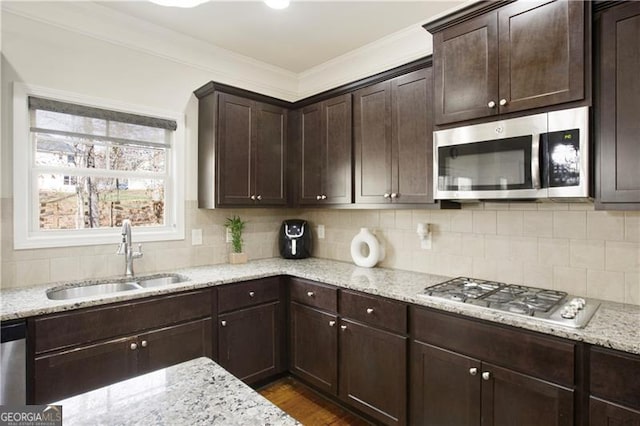
[[[228,312],[280,298],[280,278],[229,284],[218,289],[218,312]]]

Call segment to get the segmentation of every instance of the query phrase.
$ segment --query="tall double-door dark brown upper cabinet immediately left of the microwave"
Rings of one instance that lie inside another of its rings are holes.
[[[354,93],[355,201],[433,203],[432,69]]]

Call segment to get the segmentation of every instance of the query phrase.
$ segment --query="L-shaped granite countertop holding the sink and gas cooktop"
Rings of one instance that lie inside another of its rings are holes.
[[[27,318],[249,279],[291,275],[473,318],[640,354],[640,306],[636,305],[601,301],[600,308],[585,328],[572,329],[506,312],[489,311],[473,305],[418,296],[418,293],[424,287],[435,285],[451,278],[441,275],[384,268],[360,268],[350,263],[315,258],[304,260],[272,258],[251,261],[244,265],[222,264],[171,272],[184,275],[188,278],[188,281],[163,287],[131,290],[66,301],[47,299],[46,290],[55,286],[73,286],[74,283],[52,283],[28,288],[1,290],[0,319],[6,321]]]

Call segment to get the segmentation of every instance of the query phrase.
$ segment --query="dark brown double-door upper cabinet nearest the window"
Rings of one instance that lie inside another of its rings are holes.
[[[286,205],[286,130],[284,107],[217,91],[201,98],[199,207]]]

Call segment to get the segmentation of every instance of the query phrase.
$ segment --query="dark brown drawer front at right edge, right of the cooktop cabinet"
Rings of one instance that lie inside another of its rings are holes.
[[[640,356],[592,347],[591,394],[640,409]]]

